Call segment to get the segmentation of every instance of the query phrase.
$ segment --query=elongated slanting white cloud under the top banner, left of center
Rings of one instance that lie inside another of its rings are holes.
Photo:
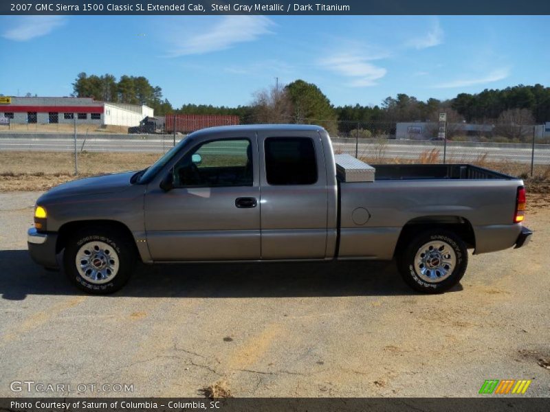
[[[274,23],[265,16],[223,16],[213,26],[190,34],[179,34],[170,52],[171,57],[205,54],[228,49],[236,43],[254,41],[270,34]]]

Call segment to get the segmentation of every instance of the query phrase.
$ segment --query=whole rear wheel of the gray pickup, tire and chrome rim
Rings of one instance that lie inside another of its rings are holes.
[[[397,258],[404,281],[423,293],[441,293],[458,284],[468,262],[464,242],[451,231],[434,229],[412,238]]]

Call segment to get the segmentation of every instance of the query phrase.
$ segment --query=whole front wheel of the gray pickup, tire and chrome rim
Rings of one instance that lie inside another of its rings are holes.
[[[135,253],[130,239],[108,228],[83,229],[69,238],[64,266],[69,280],[94,295],[122,288],[132,274]]]

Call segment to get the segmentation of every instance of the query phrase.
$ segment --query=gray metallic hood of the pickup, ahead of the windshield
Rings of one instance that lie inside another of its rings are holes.
[[[135,172],[112,173],[62,183],[45,192],[36,203],[67,196],[122,192],[131,186],[130,179],[134,174]]]

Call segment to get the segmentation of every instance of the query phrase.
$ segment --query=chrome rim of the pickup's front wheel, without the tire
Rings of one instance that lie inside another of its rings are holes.
[[[105,242],[87,242],[76,253],[76,269],[92,284],[110,282],[118,273],[118,254]]]

